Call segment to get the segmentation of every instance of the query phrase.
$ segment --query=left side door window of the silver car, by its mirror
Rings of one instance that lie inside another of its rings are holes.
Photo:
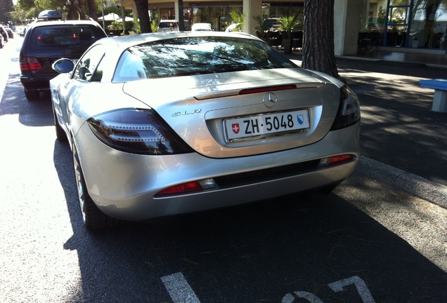
[[[80,81],[101,81],[103,72],[98,71],[99,62],[104,56],[103,45],[98,44],[93,46],[82,56],[77,63],[73,78]]]

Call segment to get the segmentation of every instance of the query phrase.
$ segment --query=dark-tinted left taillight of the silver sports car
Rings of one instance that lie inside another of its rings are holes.
[[[193,152],[153,110],[119,109],[87,120],[104,144],[132,154],[184,154]]]

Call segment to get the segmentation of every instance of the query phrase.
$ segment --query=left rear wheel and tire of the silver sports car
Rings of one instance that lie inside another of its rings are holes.
[[[108,227],[116,227],[125,223],[123,220],[117,220],[108,215],[105,215],[98,206],[93,202],[87,191],[86,183],[84,180],[84,174],[79,164],[79,156],[77,155],[77,149],[72,147],[73,151],[73,165],[74,165],[74,178],[76,181],[77,194],[79,197],[79,206],[81,208],[82,220],[86,229],[91,231],[105,229]]]

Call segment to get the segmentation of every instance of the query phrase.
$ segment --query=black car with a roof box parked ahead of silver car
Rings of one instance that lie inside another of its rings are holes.
[[[20,82],[27,100],[38,100],[58,75],[51,68],[60,58],[78,60],[91,44],[107,36],[93,20],[62,20],[58,11],[44,11],[28,27],[20,49]]]

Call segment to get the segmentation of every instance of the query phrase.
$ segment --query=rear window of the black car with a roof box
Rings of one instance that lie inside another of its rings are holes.
[[[32,31],[32,49],[48,47],[90,46],[105,37],[101,29],[94,25],[51,25],[36,27]]]

